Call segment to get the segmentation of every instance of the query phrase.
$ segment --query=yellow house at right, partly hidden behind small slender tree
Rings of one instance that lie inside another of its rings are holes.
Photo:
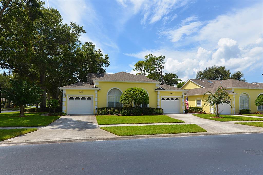
[[[181,89],[188,90],[185,96],[188,96],[189,106],[202,107],[204,105],[203,97],[205,92],[212,93],[222,86],[229,92],[231,98],[230,104],[219,105],[221,114],[236,114],[240,109],[250,109],[251,112],[263,112],[263,106],[256,106],[254,104],[259,95],[263,95],[263,83],[247,83],[233,79],[227,80],[202,80],[189,79],[181,87]],[[206,113],[213,113],[213,107],[207,106],[203,108]]]

